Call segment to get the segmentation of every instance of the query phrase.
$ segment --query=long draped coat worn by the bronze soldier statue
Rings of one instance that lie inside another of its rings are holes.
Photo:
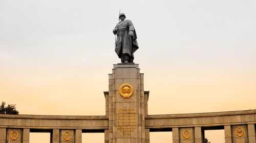
[[[113,33],[117,35],[115,52],[117,53],[119,58],[121,58],[123,53],[127,53],[132,57],[133,61],[133,53],[139,48],[139,45],[136,40],[137,35],[132,21],[120,21],[116,24],[115,28],[118,28],[117,32],[113,31]],[[128,35],[130,31],[133,31],[134,36]]]

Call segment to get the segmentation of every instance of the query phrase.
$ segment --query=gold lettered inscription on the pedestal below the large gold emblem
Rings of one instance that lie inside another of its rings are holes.
[[[136,128],[136,111],[133,108],[120,108],[117,114],[117,129],[123,135],[130,135]]]

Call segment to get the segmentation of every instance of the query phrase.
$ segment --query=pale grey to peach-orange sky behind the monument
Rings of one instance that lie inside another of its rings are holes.
[[[0,0],[0,101],[28,115],[104,115],[133,21],[148,113],[255,109],[256,1]],[[213,143],[213,142],[212,142]]]

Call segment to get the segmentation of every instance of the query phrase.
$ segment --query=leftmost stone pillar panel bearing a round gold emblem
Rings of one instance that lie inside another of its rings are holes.
[[[22,143],[22,129],[8,129],[7,143]]]

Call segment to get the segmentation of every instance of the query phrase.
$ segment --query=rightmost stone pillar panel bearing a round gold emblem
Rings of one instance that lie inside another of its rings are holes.
[[[232,143],[247,143],[247,127],[246,125],[231,126]]]

